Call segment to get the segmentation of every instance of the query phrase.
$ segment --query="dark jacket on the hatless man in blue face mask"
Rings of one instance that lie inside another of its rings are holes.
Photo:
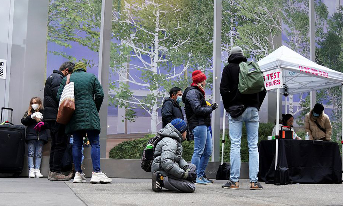
[[[171,121],[173,121],[173,119],[184,119],[184,115],[182,114],[179,103],[171,98],[166,98],[164,100],[161,110],[161,116],[163,128],[167,126],[167,124],[169,124]]]

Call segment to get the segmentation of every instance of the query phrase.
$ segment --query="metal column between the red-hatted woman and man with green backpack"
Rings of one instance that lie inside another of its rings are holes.
[[[221,52],[222,52],[222,0],[214,0],[213,21],[213,102],[220,104]],[[220,107],[212,112],[212,161],[219,161]],[[225,118],[225,116],[224,116]]]

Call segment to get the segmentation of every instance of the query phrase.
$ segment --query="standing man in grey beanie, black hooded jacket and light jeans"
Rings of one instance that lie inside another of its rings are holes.
[[[241,94],[238,90],[239,83],[239,64],[248,59],[244,56],[243,50],[239,47],[233,47],[228,59],[229,64],[224,67],[222,81],[220,83],[220,93],[222,95],[224,108],[226,111],[234,105],[244,105],[245,111],[240,116],[234,118],[229,115],[229,136],[231,141],[230,180],[222,185],[223,188],[238,189],[240,175],[240,140],[242,136],[243,122],[247,128],[247,138],[249,147],[249,178],[250,189],[261,190],[263,187],[258,182],[257,173],[259,171],[258,156],[258,111],[262,105],[267,92],[261,91],[255,94]]]

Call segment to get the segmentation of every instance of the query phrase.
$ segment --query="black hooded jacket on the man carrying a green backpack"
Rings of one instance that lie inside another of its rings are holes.
[[[220,94],[222,95],[225,110],[237,104],[243,104],[245,107],[256,107],[259,110],[267,94],[265,90],[255,94],[241,94],[239,92],[239,63],[247,60],[247,57],[241,54],[232,54],[228,59],[229,64],[224,67],[220,83]]]

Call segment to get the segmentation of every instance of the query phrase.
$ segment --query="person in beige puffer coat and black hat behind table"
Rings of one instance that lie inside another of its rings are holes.
[[[305,132],[310,139],[331,141],[332,126],[329,116],[324,114],[324,106],[316,104],[305,116]]]

